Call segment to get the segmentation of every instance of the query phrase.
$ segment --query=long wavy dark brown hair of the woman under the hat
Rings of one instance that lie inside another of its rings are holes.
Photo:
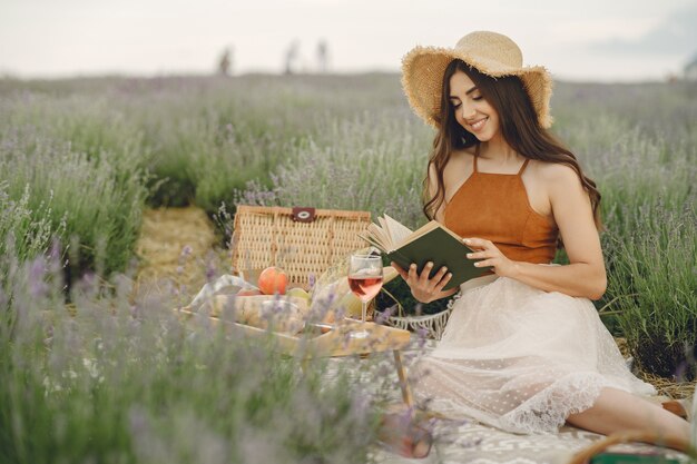
[[[570,166],[576,171],[581,179],[583,189],[590,197],[596,227],[600,229],[602,227],[600,223],[600,192],[596,188],[596,182],[583,175],[576,156],[548,130],[540,127],[522,81],[516,76],[494,79],[458,59],[451,61],[443,73],[441,113],[436,118],[439,130],[433,139],[433,150],[429,158],[426,177],[423,180],[423,214],[429,219],[433,219],[435,211],[445,201],[443,170],[452,151],[480,144],[473,134],[460,126],[450,103],[450,78],[457,71],[467,73],[484,99],[497,110],[501,124],[501,135],[512,149],[526,158],[559,162]],[[428,172],[431,165],[435,168],[438,189],[429,198]]]

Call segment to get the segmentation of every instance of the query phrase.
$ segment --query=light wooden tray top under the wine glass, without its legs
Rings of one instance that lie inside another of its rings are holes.
[[[253,327],[245,324],[223,320],[215,316],[206,316],[187,309],[175,309],[183,320],[194,320],[196,317],[207,317],[214,325],[224,324],[226,329],[251,337],[271,336],[274,349],[279,353],[297,357],[331,357],[370,354],[386,351],[402,349],[410,342],[410,332],[400,328],[361,323],[344,319],[340,324],[311,324],[298,335],[286,335]],[[365,329],[367,336],[357,338],[352,336]]]

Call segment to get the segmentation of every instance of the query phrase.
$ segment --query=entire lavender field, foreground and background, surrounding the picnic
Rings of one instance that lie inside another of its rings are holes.
[[[697,82],[558,82],[552,115],[602,194],[603,322],[642,372],[694,381]],[[192,295],[136,292],[134,247],[159,206],[418,226],[431,139],[396,75],[0,80],[0,462],[370,461],[384,366],[369,398],[190,332],[170,308]]]

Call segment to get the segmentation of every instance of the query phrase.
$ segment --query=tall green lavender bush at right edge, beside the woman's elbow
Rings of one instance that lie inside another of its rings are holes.
[[[605,237],[617,320],[641,368],[671,377],[681,367],[694,379],[697,366],[686,363],[697,347],[697,204],[624,209],[631,231]]]

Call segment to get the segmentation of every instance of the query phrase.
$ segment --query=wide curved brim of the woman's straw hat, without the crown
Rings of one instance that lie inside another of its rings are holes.
[[[426,124],[439,126],[443,73],[454,59],[461,59],[494,78],[518,76],[530,96],[539,125],[542,128],[551,127],[552,78],[544,67],[512,68],[500,61],[472,57],[455,49],[419,46],[402,59],[402,87],[412,109]]]

